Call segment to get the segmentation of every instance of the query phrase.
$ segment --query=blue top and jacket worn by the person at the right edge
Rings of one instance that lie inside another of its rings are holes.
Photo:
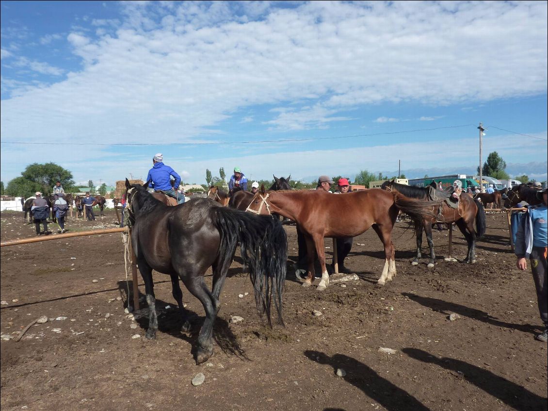
[[[514,252],[518,257],[529,257],[533,247],[548,246],[548,208],[544,204],[528,208],[516,234]]]

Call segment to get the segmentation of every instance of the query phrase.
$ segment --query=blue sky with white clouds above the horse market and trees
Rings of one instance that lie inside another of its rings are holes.
[[[360,170],[546,180],[546,2],[24,2],[1,7],[1,179],[186,183]],[[24,143],[24,144],[21,144]]]

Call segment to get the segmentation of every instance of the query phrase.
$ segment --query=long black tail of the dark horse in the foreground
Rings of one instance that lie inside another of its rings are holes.
[[[214,207],[215,226],[219,230],[220,269],[227,272],[238,242],[240,254],[249,267],[257,311],[270,318],[274,301],[278,322],[282,319],[282,293],[286,279],[287,235],[279,221],[270,215],[254,215],[228,207]]]

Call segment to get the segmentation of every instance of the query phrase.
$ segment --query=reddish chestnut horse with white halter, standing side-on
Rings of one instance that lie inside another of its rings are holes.
[[[399,210],[414,218],[435,218],[432,203],[407,198],[399,193],[370,189],[332,195],[319,190],[265,191],[264,186],[255,194],[247,211],[255,214],[277,213],[297,222],[306,239],[308,272],[302,283],[309,287],[314,281],[314,251],[322,267],[322,279],[317,290],[329,285],[326,269],[324,237],[354,237],[369,227],[383,242],[385,264],[377,283],[384,285],[396,275],[392,229]],[[341,215],[344,224],[341,224]]]

